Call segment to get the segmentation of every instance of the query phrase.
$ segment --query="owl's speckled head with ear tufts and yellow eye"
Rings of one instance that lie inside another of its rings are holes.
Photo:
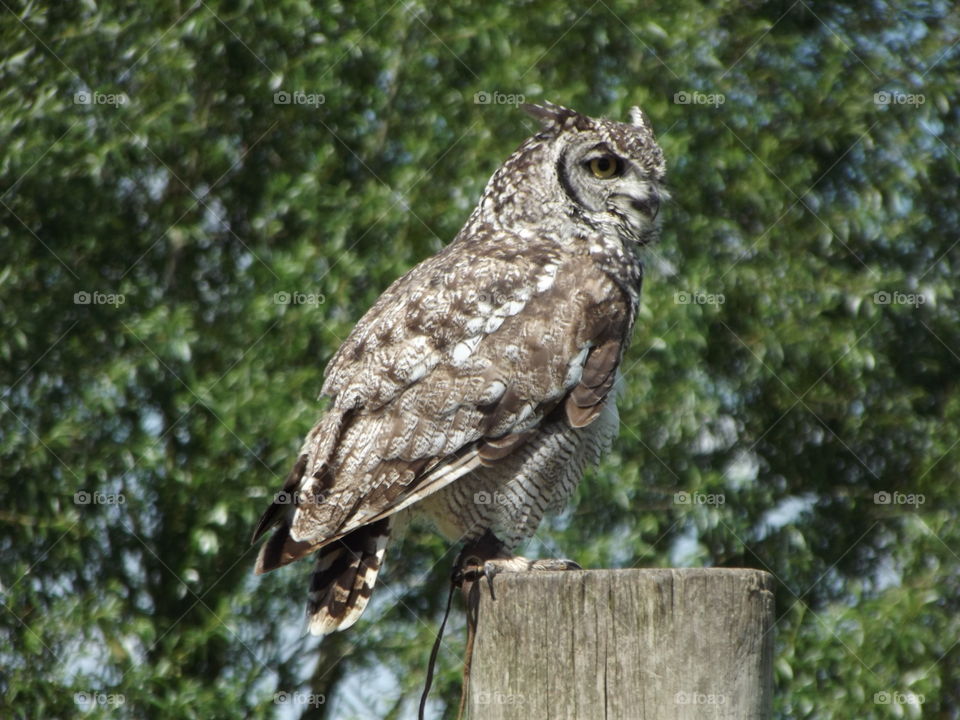
[[[562,194],[559,199],[590,225],[638,243],[652,240],[660,202],[667,197],[666,167],[640,108],[632,108],[630,121],[621,123],[553,103],[523,107],[543,126],[530,149],[556,173],[553,193]]]

